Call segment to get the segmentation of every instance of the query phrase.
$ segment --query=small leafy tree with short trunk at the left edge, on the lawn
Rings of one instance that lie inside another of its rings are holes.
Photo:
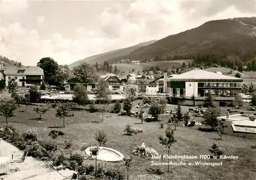
[[[14,116],[13,111],[17,108],[17,104],[14,100],[7,101],[4,99],[0,101],[0,112],[6,119],[6,125],[8,125],[8,118]]]

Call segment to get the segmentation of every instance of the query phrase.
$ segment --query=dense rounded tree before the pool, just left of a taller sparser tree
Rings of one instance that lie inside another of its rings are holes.
[[[73,91],[73,101],[80,105],[86,105],[89,102],[87,88],[84,85],[77,84]]]

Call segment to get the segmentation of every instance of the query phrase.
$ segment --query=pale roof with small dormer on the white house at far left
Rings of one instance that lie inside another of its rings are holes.
[[[18,73],[18,70],[25,70],[24,73]],[[5,75],[34,75],[44,76],[44,70],[38,66],[9,66],[4,71]]]

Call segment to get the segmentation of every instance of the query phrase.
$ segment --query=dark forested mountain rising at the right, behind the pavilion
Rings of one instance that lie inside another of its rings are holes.
[[[143,60],[175,60],[193,58],[197,54],[220,56],[254,53],[256,44],[256,17],[241,17],[207,21],[197,28],[164,37],[143,48]],[[254,45],[254,46],[253,46]],[[141,59],[140,50],[126,56],[115,57],[109,63],[120,59]]]

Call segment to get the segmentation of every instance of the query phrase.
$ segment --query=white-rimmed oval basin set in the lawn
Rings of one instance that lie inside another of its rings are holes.
[[[96,148],[96,147],[97,146],[87,148],[85,150],[86,154],[92,156],[90,149]],[[97,155],[97,160],[107,161],[107,162],[123,161],[124,156],[121,152],[119,152],[115,149],[108,148],[108,147],[99,146],[98,148],[100,148],[100,149],[99,149],[99,153]],[[96,157],[92,156],[92,158],[96,158]]]

